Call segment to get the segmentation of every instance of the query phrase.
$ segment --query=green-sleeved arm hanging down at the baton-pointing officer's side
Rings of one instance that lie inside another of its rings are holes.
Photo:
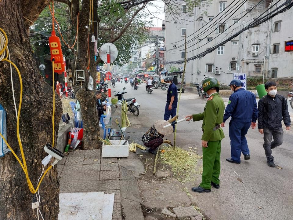
[[[203,141],[209,141],[218,117],[217,106],[214,101],[208,101],[206,105],[206,118],[204,125],[204,134],[201,137]]]

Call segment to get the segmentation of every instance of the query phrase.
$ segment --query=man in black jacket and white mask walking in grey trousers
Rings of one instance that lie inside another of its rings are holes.
[[[291,120],[287,99],[277,94],[276,83],[266,82],[265,89],[268,94],[262,97],[258,103],[258,128],[259,133],[263,134],[264,144],[262,146],[265,149],[267,164],[270,167],[275,167],[272,149],[283,143],[282,120],[284,119],[286,130],[290,129]]]

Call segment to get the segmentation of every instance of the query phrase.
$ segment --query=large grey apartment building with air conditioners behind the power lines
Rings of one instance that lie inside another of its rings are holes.
[[[190,14],[184,1],[174,2],[182,5],[182,12],[178,20],[170,20],[168,13],[165,13],[167,62],[200,54],[240,31],[257,16],[276,8],[275,0],[216,0],[196,7]],[[267,78],[293,78],[293,30],[289,28],[292,12],[293,9],[289,9],[266,23],[244,31],[204,57],[187,62],[186,83],[214,76],[220,83],[228,84],[233,79],[233,73],[246,73],[248,77],[262,77],[264,74]],[[187,36],[186,54],[184,33]],[[169,70],[171,66],[182,70],[184,64],[165,64],[165,69]]]

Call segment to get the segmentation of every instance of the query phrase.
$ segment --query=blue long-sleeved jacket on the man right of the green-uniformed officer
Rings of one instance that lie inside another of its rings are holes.
[[[258,114],[255,95],[241,88],[230,96],[223,122],[230,116],[235,122],[256,122]]]

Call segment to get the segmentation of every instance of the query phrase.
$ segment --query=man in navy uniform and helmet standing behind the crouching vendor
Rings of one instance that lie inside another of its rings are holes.
[[[167,76],[164,80],[166,84],[169,86],[168,92],[167,92],[167,103],[165,107],[165,114],[164,114],[164,120],[168,121],[171,117],[176,116],[176,108],[177,108],[177,87],[172,82],[172,78],[170,76]],[[175,130],[175,125],[173,125],[173,131]]]

